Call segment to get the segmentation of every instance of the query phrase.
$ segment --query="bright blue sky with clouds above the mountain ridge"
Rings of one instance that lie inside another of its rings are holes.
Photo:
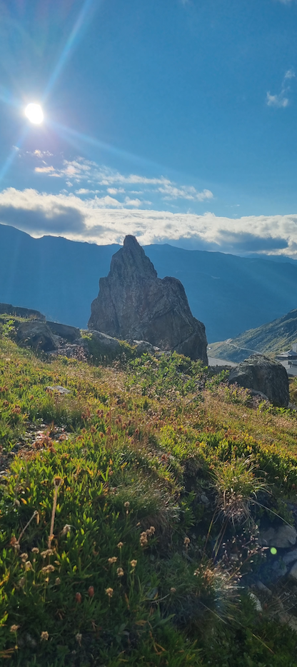
[[[0,223],[297,259],[296,38],[297,0],[0,0]]]

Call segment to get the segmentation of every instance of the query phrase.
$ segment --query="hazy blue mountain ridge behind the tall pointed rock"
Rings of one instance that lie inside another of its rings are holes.
[[[116,244],[33,239],[0,225],[0,301],[41,311],[47,319],[86,327],[99,278],[109,272]],[[206,325],[208,341],[281,317],[296,307],[297,262],[145,247],[158,276],[181,280],[193,315]]]

